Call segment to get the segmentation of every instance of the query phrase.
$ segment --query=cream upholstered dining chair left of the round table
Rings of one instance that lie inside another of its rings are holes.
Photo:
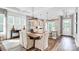
[[[31,40],[27,36],[26,30],[21,30],[20,31],[20,44],[26,49],[29,49],[33,46],[33,40]]]

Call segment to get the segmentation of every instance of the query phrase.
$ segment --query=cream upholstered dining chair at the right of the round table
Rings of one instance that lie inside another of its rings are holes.
[[[41,49],[42,51],[48,47],[48,32],[43,33],[39,40],[36,40],[35,47]]]

